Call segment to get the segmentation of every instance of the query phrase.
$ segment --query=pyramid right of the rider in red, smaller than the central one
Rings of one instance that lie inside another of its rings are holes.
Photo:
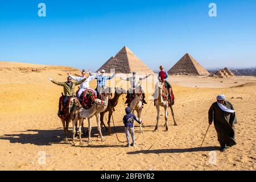
[[[207,76],[210,73],[202,67],[191,55],[186,53],[177,63],[168,71],[170,75],[199,75]]]

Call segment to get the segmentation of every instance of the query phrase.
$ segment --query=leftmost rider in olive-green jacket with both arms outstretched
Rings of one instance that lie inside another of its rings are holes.
[[[55,80],[53,80],[52,77],[49,77],[48,79],[51,82],[53,82],[53,84],[63,86],[63,91],[64,91],[64,100],[62,102],[63,107],[65,106],[69,97],[75,96],[75,86],[81,84],[82,82],[84,82],[86,80],[86,78],[83,78],[80,81],[72,82],[71,81],[72,80],[71,76],[68,76],[67,81],[65,81],[65,82],[55,81]],[[61,111],[62,111],[62,109],[60,109],[60,113],[61,113]]]

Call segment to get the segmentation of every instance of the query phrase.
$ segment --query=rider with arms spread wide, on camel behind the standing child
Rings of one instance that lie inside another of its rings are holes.
[[[126,81],[130,81],[130,85],[131,85],[131,89],[133,88],[138,88],[139,86],[141,86],[141,84],[139,84],[139,81],[140,80],[145,80],[147,77],[149,77],[151,74],[145,76],[145,77],[137,77],[137,73],[136,72],[133,72],[133,76],[132,77],[127,77],[127,78],[123,78],[123,77],[120,77],[121,80],[126,80]],[[143,104],[147,104],[147,102],[145,101],[145,93],[144,93],[144,89],[142,88],[141,86],[141,89],[142,89],[142,103]],[[130,89],[129,89],[130,90]],[[128,103],[128,98],[129,98],[129,90],[127,92],[127,100],[125,102],[125,104]],[[130,91],[131,93],[131,91]]]

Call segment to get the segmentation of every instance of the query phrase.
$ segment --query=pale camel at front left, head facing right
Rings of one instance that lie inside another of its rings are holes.
[[[93,106],[90,109],[84,109],[82,108],[79,100],[75,97],[72,98],[71,102],[75,102],[76,106],[79,106],[80,109],[77,109],[71,113],[71,120],[73,125],[73,137],[72,137],[72,145],[75,145],[75,134],[76,134],[76,123],[79,121],[79,131],[77,132],[79,134],[80,144],[82,144],[82,138],[81,138],[81,127],[82,122],[84,121],[84,118],[88,118],[89,128],[90,128],[90,118],[93,117],[93,115],[97,111],[97,107],[106,107],[107,102],[96,99]],[[100,122],[97,122],[98,129],[100,129]],[[89,131],[90,132],[90,131]],[[101,134],[101,132],[100,132]],[[102,134],[101,134],[102,137]],[[88,139],[90,140],[90,138]]]

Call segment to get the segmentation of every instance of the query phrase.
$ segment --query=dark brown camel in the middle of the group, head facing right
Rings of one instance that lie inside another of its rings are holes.
[[[112,135],[111,133],[111,128],[110,128],[110,119],[112,117],[113,111],[114,111],[114,107],[117,106],[118,104],[118,99],[119,97],[126,93],[125,89],[122,88],[115,88],[115,95],[112,99],[109,100],[108,102],[108,107],[106,108],[106,110],[102,111],[100,113],[100,121],[101,121],[101,127],[104,126],[106,130],[109,131],[109,135]],[[108,117],[108,128],[106,127],[106,125],[104,124],[104,115],[105,113],[109,112],[109,117]]]

